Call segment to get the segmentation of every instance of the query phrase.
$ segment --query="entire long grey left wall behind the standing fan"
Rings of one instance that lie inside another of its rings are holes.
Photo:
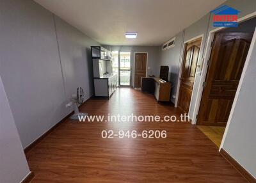
[[[93,93],[88,47],[99,43],[55,20],[61,57],[51,12],[32,0],[0,1],[0,74],[24,148],[68,115],[77,86]]]

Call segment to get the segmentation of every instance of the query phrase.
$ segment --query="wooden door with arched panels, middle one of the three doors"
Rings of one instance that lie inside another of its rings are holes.
[[[189,111],[201,41],[199,39],[185,45],[178,100],[178,107],[185,113]]]

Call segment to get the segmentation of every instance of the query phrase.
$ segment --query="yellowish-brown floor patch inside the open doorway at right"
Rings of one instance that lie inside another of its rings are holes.
[[[198,127],[198,129],[200,129],[200,131],[202,131],[207,138],[211,139],[211,141],[215,143],[217,147],[220,147],[221,140],[225,132],[225,127],[203,125],[197,125],[196,127]]]

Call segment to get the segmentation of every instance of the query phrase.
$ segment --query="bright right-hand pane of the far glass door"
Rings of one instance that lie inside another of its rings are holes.
[[[119,85],[131,86],[131,52],[120,52]]]

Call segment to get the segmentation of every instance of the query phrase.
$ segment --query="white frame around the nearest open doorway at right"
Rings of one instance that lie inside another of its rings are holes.
[[[250,13],[248,15],[245,15],[244,17],[239,18],[237,20],[237,22],[241,23],[241,22],[244,22],[246,20],[252,19],[254,17],[256,17],[256,12]],[[209,60],[209,58],[211,56],[211,42],[214,38],[215,33],[217,31],[222,30],[222,29],[225,29],[225,28],[221,27],[221,28],[212,29],[211,31],[209,31],[209,34],[207,36],[207,43],[206,43],[206,46],[205,46],[204,57],[203,57],[203,60],[202,60],[203,61],[202,62],[203,67],[202,67],[202,71],[201,71],[198,93],[196,95],[196,104],[195,104],[195,109],[194,109],[193,118],[192,118],[192,124],[194,124],[194,125],[196,124],[196,115],[198,114],[198,111],[199,111],[199,107],[200,107],[200,103],[201,103],[201,99],[202,99],[202,94],[203,94],[203,90],[204,90],[203,83],[204,83],[204,81],[206,79],[206,75],[207,75],[208,65],[205,64],[205,60]],[[255,45],[255,43],[256,43],[256,28],[255,28],[254,33],[253,33],[252,42],[250,44],[248,54],[246,56],[246,60],[245,60],[244,67],[243,67],[243,72],[241,74],[241,78],[240,78],[239,84],[237,86],[236,95],[235,95],[234,102],[233,102],[231,110],[230,110],[230,114],[228,116],[227,125],[226,125],[226,128],[225,128],[225,132],[223,134],[223,138],[221,140],[221,145],[220,145],[219,151],[221,150],[221,148],[223,148],[225,138],[227,137],[228,128],[229,128],[229,125],[230,125],[230,122],[231,122],[231,118],[234,114],[234,109],[236,107],[237,98],[238,98],[239,92],[241,90],[241,86],[243,84],[244,76],[245,76],[245,73],[246,73],[246,70],[247,70],[247,67],[248,67],[248,63],[249,63],[250,58],[252,56],[252,50],[253,50],[253,46]]]

